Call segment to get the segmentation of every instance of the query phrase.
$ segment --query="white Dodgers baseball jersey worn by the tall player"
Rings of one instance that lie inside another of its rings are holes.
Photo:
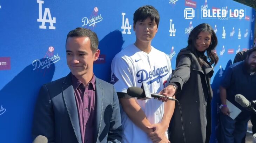
[[[111,65],[111,83],[116,92],[127,93],[131,86],[141,87],[145,82],[151,93],[159,93],[168,85],[171,76],[169,57],[151,46],[150,53],[145,53],[134,44],[129,45],[116,54]],[[164,114],[164,103],[157,99],[136,100],[147,116],[150,123],[161,122]],[[121,110],[124,143],[150,143],[148,135],[137,127]],[[166,132],[167,135],[167,132]]]

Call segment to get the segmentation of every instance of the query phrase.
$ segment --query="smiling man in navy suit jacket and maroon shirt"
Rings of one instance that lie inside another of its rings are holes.
[[[119,100],[114,86],[97,78],[93,62],[100,55],[96,33],[70,31],[66,40],[66,77],[43,84],[35,105],[33,139],[55,143],[121,142]]]

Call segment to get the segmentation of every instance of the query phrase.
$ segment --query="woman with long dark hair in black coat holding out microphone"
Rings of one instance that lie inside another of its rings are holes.
[[[177,55],[176,69],[169,86],[162,91],[162,95],[175,95],[180,102],[187,143],[209,143],[210,140],[213,96],[211,66],[218,62],[215,53],[217,43],[215,32],[209,24],[197,25],[189,35],[188,46]],[[169,140],[171,143],[184,142],[177,103],[169,126]]]

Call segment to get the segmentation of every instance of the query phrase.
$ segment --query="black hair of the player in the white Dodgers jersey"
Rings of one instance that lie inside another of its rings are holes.
[[[144,21],[148,17],[152,22],[155,20],[158,28],[160,16],[158,11],[153,6],[142,6],[138,8],[133,14],[133,23],[135,25],[137,21]]]

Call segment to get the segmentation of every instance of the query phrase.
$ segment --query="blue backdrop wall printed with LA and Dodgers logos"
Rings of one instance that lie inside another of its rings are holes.
[[[101,55],[94,73],[109,81],[114,55],[135,42],[133,13],[143,5],[153,5],[160,13],[152,45],[169,55],[173,69],[177,53],[187,46],[190,31],[200,23],[214,28],[220,60],[212,80],[211,142],[217,143],[217,90],[222,67],[236,52],[251,48],[254,39],[255,10],[231,0],[0,0],[0,142],[31,142],[39,88],[69,73],[65,41],[70,30],[84,27],[97,33]],[[209,15],[223,9],[228,12],[226,17]],[[241,9],[243,15],[237,11]],[[207,16],[202,14],[205,10]]]

